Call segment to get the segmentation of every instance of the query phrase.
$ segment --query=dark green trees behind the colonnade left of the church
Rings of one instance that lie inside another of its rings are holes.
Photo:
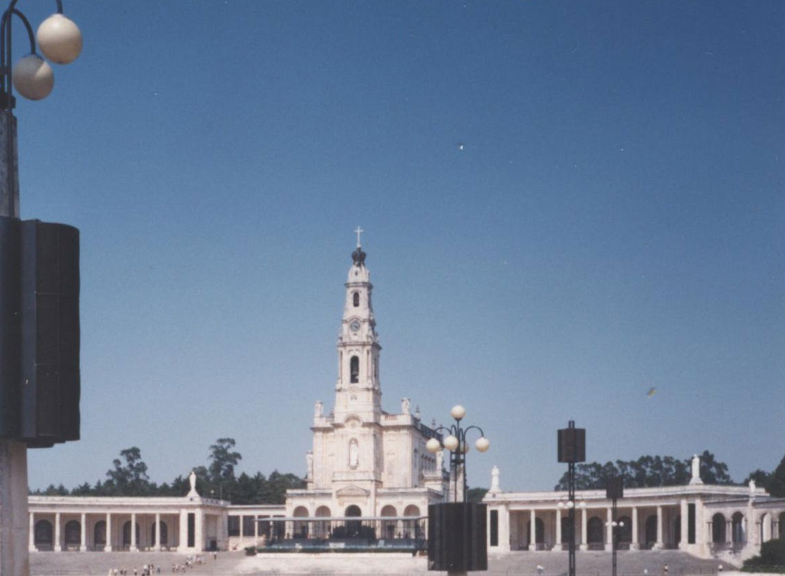
[[[287,489],[304,488],[305,480],[291,473],[277,470],[269,476],[257,472],[249,476],[242,472],[235,476],[235,467],[243,456],[235,451],[233,438],[219,438],[210,446],[207,466],[193,468],[196,474],[196,491],[203,498],[222,498],[232,504],[283,504]],[[50,484],[45,490],[31,494],[44,496],[184,496],[190,485],[188,476],[177,476],[171,482],[157,484],[148,476],[148,466],[138,447],[120,450],[119,458],[112,461],[106,479],[89,482],[68,490],[63,484]]]

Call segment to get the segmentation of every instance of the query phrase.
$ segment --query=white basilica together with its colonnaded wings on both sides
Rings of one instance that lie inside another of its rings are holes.
[[[436,433],[417,411],[411,414],[408,399],[398,414],[382,410],[382,347],[359,237],[357,244],[345,283],[334,408],[325,414],[316,403],[305,489],[289,490],[285,505],[231,505],[197,494],[192,476],[191,490],[181,498],[31,496],[30,549],[241,549],[265,541],[335,538],[360,522],[374,523],[378,539],[422,538],[422,517],[429,504],[447,497],[449,476],[442,454],[425,450]],[[494,469],[484,498],[488,552],[563,550],[566,497],[557,491],[502,491]],[[604,490],[582,490],[576,497],[579,549],[609,550],[612,502]],[[739,562],[758,553],[761,542],[785,538],[785,498],[772,498],[754,485],[703,484],[693,462],[685,486],[625,490],[619,519],[626,549],[681,549]]]

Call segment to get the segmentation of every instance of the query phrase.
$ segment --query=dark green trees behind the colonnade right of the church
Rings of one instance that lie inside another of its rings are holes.
[[[728,465],[717,461],[709,450],[700,454],[700,478],[707,484],[736,484],[728,474]],[[692,457],[674,458],[673,456],[641,456],[637,460],[617,460],[615,462],[581,462],[575,465],[576,490],[604,490],[605,480],[621,476],[624,487],[644,488],[658,486],[677,486],[689,483],[692,478]],[[750,479],[769,494],[785,497],[785,456],[780,465],[772,472],[758,468],[750,472],[743,484]],[[568,473],[564,472],[553,490],[567,490]]]

